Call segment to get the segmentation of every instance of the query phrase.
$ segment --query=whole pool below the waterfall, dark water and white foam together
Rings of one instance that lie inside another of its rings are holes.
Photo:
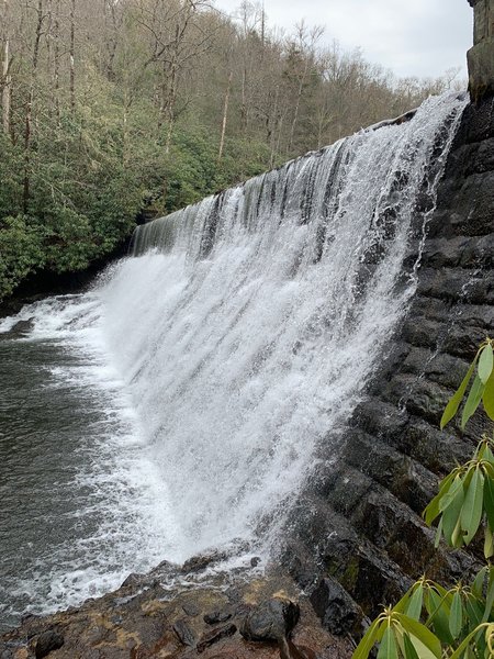
[[[26,335],[0,324],[0,633],[161,558],[153,466],[88,334],[94,300],[32,313]]]

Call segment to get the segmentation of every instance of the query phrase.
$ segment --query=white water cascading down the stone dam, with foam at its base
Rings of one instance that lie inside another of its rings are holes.
[[[91,377],[94,360],[104,364],[93,387],[113,425],[91,448],[94,472],[81,472],[117,568],[96,592],[210,546],[269,551],[322,443],[336,450],[414,293],[464,103],[429,99],[407,123],[362,131],[142,226],[134,257],[90,293],[0,324],[33,316],[24,342],[61,336],[89,355]],[[121,463],[101,467],[115,451]],[[91,537],[83,559],[93,576],[105,566],[94,567]],[[92,594],[74,582],[70,592],[70,603]],[[40,599],[30,606],[43,608]]]

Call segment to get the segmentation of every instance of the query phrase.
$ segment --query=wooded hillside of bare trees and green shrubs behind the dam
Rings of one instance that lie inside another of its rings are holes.
[[[398,79],[323,32],[283,33],[246,1],[228,16],[212,0],[0,0],[0,300],[458,85]]]

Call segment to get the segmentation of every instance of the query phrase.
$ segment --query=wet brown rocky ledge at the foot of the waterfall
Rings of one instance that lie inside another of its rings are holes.
[[[27,616],[0,637],[2,659],[349,659],[352,641],[327,633],[307,596],[274,569],[222,570],[220,555],[146,576],[78,608]]]

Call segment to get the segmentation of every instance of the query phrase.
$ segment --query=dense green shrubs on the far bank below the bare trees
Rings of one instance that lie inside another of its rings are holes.
[[[93,98],[63,109],[37,127],[30,154],[30,197],[23,214],[24,153],[0,131],[0,300],[30,273],[85,269],[111,253],[142,210],[156,215],[194,203],[268,167],[258,141],[217,138],[199,119],[176,125],[170,153],[155,141],[156,108],[136,102],[123,131],[113,85],[88,74]]]

